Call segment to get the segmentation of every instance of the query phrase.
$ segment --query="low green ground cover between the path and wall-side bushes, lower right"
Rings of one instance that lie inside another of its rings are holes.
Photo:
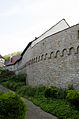
[[[37,97],[33,98],[33,103],[40,106],[46,112],[56,115],[59,119],[78,119],[79,117],[79,111],[71,107],[67,100]]]

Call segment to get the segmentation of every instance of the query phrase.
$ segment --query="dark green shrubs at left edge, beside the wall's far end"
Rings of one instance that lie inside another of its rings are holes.
[[[1,71],[0,83],[5,87],[15,91],[25,85],[26,79],[24,74],[18,73],[16,75],[14,72],[10,72],[6,69],[1,69]]]

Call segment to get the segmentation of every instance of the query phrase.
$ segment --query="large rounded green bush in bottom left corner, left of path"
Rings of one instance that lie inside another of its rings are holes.
[[[24,119],[26,105],[18,95],[8,92],[0,95],[0,119]]]

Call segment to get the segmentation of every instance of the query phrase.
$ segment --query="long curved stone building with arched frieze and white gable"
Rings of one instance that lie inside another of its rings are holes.
[[[63,19],[30,42],[14,71],[25,73],[28,85],[79,90],[79,24],[70,27]]]

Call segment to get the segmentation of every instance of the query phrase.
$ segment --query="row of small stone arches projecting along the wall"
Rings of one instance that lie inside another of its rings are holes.
[[[29,65],[32,65],[34,63],[39,63],[41,61],[45,61],[45,60],[50,60],[50,59],[54,59],[54,58],[62,58],[64,56],[69,56],[69,55],[77,55],[79,54],[79,46],[77,46],[76,48],[74,47],[70,47],[68,49],[64,48],[62,51],[57,50],[57,51],[51,51],[50,53],[46,52],[44,54],[38,55],[32,59],[30,59],[28,62],[26,62],[26,67]]]

